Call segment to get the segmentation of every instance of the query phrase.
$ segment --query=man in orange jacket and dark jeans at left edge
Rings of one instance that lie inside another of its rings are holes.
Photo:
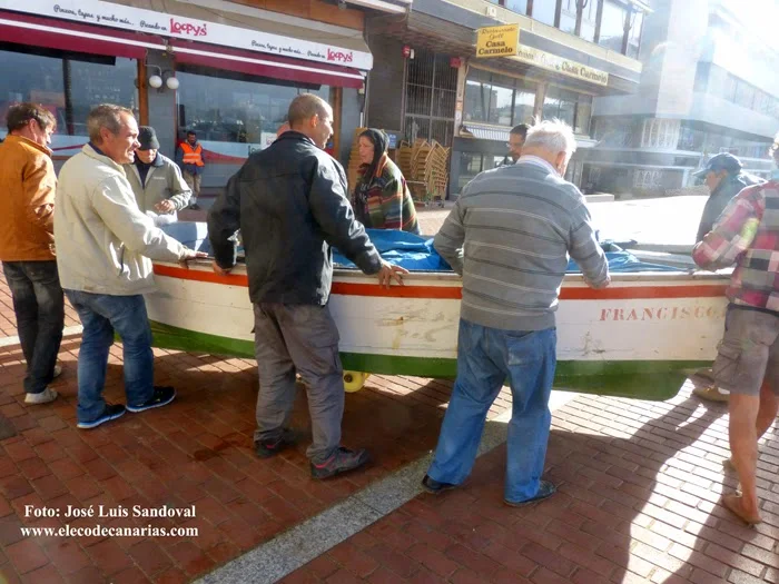
[[[0,143],[0,260],[13,297],[19,342],[27,360],[26,404],[57,398],[48,387],[59,375],[65,299],[55,259],[55,190],[51,164],[55,117],[42,106],[18,103],[7,115]]]

